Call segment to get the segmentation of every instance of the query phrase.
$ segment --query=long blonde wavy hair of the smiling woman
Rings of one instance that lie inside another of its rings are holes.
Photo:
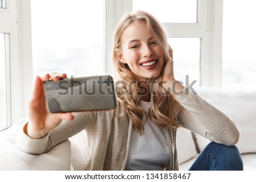
[[[150,80],[150,100],[152,105],[148,113],[146,113],[140,106],[141,96],[138,94],[142,89],[141,82],[138,80],[137,76],[131,72],[127,64],[123,64],[118,60],[117,49],[122,51],[122,32],[134,21],[145,22],[148,32],[150,32],[152,37],[165,52],[165,59],[167,60],[168,57],[170,57],[166,32],[162,24],[154,18],[154,16],[145,11],[136,11],[123,15],[115,28],[112,55],[116,71],[115,76],[118,77],[117,80],[121,81],[118,85],[117,98],[118,101],[125,106],[125,110],[123,110],[122,114],[127,113],[129,115],[133,122],[133,128],[138,134],[142,134],[144,131],[144,123],[142,122],[143,113],[156,125],[168,129],[175,129],[179,127],[175,118],[177,117],[180,104],[170,92],[163,88],[161,81],[162,73],[160,73],[160,76],[156,78],[156,80],[154,78]]]

